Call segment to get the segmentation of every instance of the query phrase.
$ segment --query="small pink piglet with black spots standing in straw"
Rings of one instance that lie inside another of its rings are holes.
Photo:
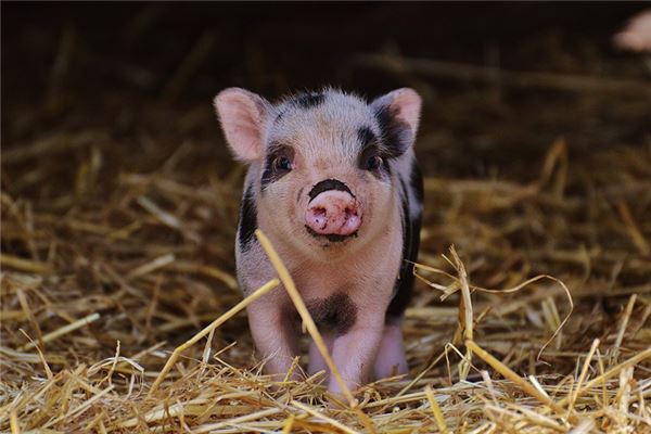
[[[422,215],[412,150],[421,98],[404,88],[369,103],[324,89],[272,104],[229,88],[215,107],[234,157],[248,165],[235,242],[244,295],[276,277],[254,237],[260,228],[349,388],[407,373],[401,322]],[[247,314],[267,371],[288,372],[301,332],[289,295],[277,289]],[[308,372],[322,369],[311,343]]]

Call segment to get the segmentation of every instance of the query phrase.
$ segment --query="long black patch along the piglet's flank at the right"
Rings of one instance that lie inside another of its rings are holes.
[[[386,322],[397,321],[411,299],[413,292],[413,264],[418,259],[420,245],[421,218],[411,218],[407,186],[400,180],[403,188],[403,263],[400,273],[395,283],[394,297],[386,308]]]

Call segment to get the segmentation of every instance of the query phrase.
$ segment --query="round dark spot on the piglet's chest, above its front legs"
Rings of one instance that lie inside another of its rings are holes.
[[[309,301],[307,310],[323,334],[345,334],[357,321],[357,306],[345,292],[323,299]]]

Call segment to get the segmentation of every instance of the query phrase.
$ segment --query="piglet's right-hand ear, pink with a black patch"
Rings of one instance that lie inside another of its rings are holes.
[[[409,88],[394,90],[371,103],[383,142],[392,156],[403,155],[413,144],[421,104],[420,95]]]

